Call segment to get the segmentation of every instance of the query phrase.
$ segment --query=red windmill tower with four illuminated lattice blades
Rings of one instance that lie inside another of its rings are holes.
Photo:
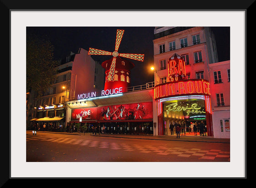
[[[110,60],[104,61],[101,66],[105,68],[105,86],[104,90],[117,87],[126,88],[130,85],[130,70],[134,67],[133,62],[124,60],[126,57],[133,60],[144,61],[144,54],[124,54],[118,53],[118,48],[123,37],[124,30],[117,30],[115,51],[103,51],[89,48],[88,55],[112,55]]]

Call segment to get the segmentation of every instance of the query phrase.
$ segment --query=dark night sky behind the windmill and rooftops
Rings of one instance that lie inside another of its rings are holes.
[[[131,70],[131,86],[144,85],[154,81],[154,27],[27,27],[27,33],[48,39],[54,46],[54,58],[68,56],[70,51],[77,53],[79,48],[113,52],[117,29],[124,30],[118,49],[119,53],[144,54],[144,61],[131,60],[135,67]],[[229,60],[229,27],[213,27],[219,61]],[[94,55],[94,60],[102,63],[112,56]]]

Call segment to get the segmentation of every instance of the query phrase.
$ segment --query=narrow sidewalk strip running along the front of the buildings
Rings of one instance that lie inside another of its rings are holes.
[[[27,130],[27,132],[31,132]],[[47,132],[47,131],[37,131],[37,132]],[[90,132],[47,132],[47,133],[55,133],[55,134],[71,134],[71,135],[79,135],[79,136],[93,136],[93,137],[115,137],[115,138],[129,138],[129,139],[146,139],[146,140],[166,140],[166,141],[183,141],[183,142],[212,142],[212,143],[230,143],[229,138],[213,138],[213,137],[203,137],[203,136],[186,136],[180,135],[180,138],[176,138],[176,135],[163,135],[163,136],[153,136],[153,135],[134,135],[134,134],[92,134]]]

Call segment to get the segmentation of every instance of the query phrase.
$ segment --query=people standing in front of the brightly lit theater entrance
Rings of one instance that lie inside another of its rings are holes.
[[[185,125],[185,123],[180,125],[179,123],[175,122],[174,125],[173,125],[172,122],[171,122],[170,125],[169,125],[171,135],[173,135],[174,127],[175,127],[177,138],[180,137],[181,131],[182,131],[182,134],[183,134],[183,131],[184,131],[184,134],[186,135],[186,125]],[[204,129],[205,129],[205,125],[203,124],[203,121],[198,122],[198,123],[197,122],[195,122],[195,123],[191,122],[191,124],[190,124],[190,130],[191,130],[191,132],[194,132],[195,136],[197,136],[197,131],[199,131],[200,136],[201,135],[204,136]]]

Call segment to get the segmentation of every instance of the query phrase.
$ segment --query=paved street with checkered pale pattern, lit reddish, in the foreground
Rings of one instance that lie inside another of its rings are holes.
[[[229,146],[27,132],[27,162],[229,162]]]

